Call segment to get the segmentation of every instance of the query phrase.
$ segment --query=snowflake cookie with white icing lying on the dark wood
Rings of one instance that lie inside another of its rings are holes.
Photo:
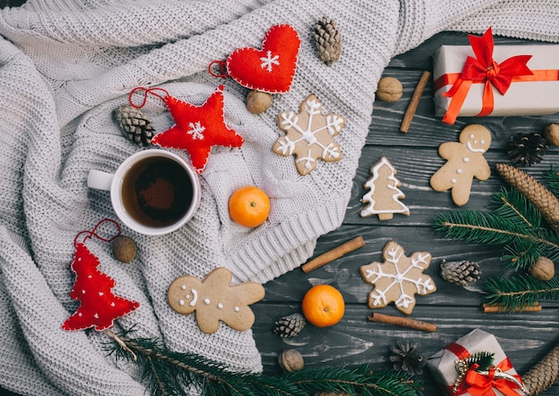
[[[359,268],[363,280],[374,286],[369,294],[369,308],[386,307],[394,301],[397,309],[411,314],[415,307],[415,294],[430,294],[437,290],[433,279],[424,275],[429,268],[431,255],[414,252],[406,257],[398,243],[390,241],[382,251],[383,263],[371,262]]]

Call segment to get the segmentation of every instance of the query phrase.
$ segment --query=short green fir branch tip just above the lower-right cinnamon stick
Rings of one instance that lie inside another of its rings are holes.
[[[535,305],[538,300],[559,300],[559,278],[547,282],[526,275],[491,278],[484,285],[484,291],[488,293],[488,303],[513,311]]]

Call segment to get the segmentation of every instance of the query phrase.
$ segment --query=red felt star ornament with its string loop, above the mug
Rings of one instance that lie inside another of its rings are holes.
[[[144,97],[142,103],[135,104],[132,95],[138,91],[143,91]],[[129,103],[140,108],[146,104],[148,94],[163,99],[175,121],[175,125],[171,128],[154,136],[152,144],[185,150],[197,173],[204,171],[214,145],[240,147],[245,142],[242,136],[225,124],[223,86],[213,91],[201,106],[181,101],[169,95],[163,88],[157,87],[134,88],[130,92]]]

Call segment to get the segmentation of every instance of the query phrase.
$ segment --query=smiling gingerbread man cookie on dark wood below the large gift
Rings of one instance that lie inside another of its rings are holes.
[[[439,155],[446,164],[431,177],[430,185],[435,191],[452,190],[452,199],[462,206],[470,199],[473,177],[487,180],[491,169],[483,154],[491,144],[491,132],[478,124],[463,128],[460,143],[446,142],[438,147]]]

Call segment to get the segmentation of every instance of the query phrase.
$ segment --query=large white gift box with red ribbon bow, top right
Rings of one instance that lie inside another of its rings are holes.
[[[491,28],[433,55],[435,115],[528,116],[559,111],[559,45],[493,45]]]

